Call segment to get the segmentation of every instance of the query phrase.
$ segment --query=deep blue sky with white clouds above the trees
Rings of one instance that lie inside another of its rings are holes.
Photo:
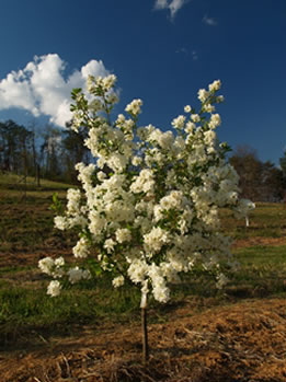
[[[0,0],[0,120],[62,125],[73,85],[115,73],[122,113],[169,129],[216,79],[219,138],[262,161],[286,148],[285,0]],[[35,56],[37,58],[35,58]]]

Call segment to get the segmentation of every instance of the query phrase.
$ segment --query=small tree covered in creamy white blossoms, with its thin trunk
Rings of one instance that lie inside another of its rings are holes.
[[[138,127],[141,100],[111,121],[115,81],[113,74],[91,76],[88,95],[81,89],[72,92],[72,129],[88,129],[85,146],[96,164],[77,164],[82,190],[68,190],[67,210],[55,218],[55,225],[79,231],[72,248],[79,263],[96,248],[96,262],[113,273],[115,288],[126,278],[139,286],[145,322],[147,296],[165,303],[169,285],[198,263],[214,269],[217,287],[222,287],[227,278],[219,264],[232,261],[230,240],[219,231],[218,210],[229,207],[245,217],[254,206],[239,199],[238,175],[226,161],[229,148],[216,137],[220,116],[215,104],[224,101],[217,95],[220,81],[198,91],[198,113],[185,106],[185,115],[172,121],[173,131],[165,132],[152,125]],[[91,277],[82,266],[67,270],[62,257],[46,257],[39,267],[55,278],[47,289],[54,297],[62,280],[75,283]]]

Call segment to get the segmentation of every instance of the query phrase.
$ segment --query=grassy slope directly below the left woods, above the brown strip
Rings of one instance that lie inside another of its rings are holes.
[[[0,175],[0,252],[31,252],[71,245],[75,238],[54,228],[49,209],[53,194],[65,204],[66,192],[72,186],[27,177],[26,186],[18,175]]]

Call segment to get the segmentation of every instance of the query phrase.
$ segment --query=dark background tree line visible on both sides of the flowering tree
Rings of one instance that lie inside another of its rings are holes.
[[[23,176],[77,183],[75,165],[89,163],[90,152],[84,146],[87,131],[45,126],[37,132],[13,120],[0,123],[0,171]],[[254,201],[281,201],[286,196],[286,151],[281,166],[262,162],[254,149],[240,146],[229,158],[240,176],[241,197]]]

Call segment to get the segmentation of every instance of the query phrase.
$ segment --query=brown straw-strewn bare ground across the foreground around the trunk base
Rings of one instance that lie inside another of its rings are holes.
[[[141,366],[140,326],[104,325],[0,355],[1,382],[286,381],[285,301],[249,300],[149,325]]]

